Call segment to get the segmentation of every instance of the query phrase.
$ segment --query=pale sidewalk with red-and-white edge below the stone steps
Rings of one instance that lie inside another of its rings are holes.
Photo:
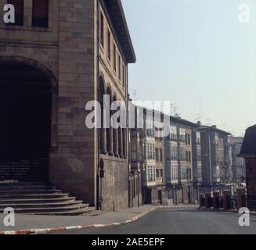
[[[110,227],[139,220],[142,216],[163,208],[196,208],[193,205],[153,206],[125,209],[114,213],[102,213],[99,216],[33,216],[16,214],[15,227],[5,227],[4,215],[0,215],[0,234],[43,234],[49,231]]]

